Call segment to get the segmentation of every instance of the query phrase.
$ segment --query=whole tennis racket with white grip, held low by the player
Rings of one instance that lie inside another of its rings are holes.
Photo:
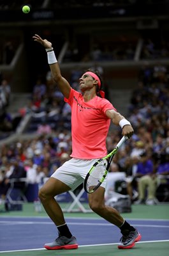
[[[127,136],[123,136],[117,146],[107,156],[98,159],[91,167],[91,170],[87,173],[84,180],[84,189],[87,193],[93,193],[99,188],[105,177],[107,176],[110,163],[118,149],[121,147],[124,141],[128,140]]]

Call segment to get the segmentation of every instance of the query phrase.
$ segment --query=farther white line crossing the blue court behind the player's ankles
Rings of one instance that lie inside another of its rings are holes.
[[[112,223],[89,223],[89,222],[66,222],[68,225],[90,225],[90,226],[111,226]],[[45,221],[1,221],[0,224],[4,225],[34,225],[34,224],[42,224],[42,225],[53,225],[52,222],[45,222]],[[133,223],[132,225],[136,227],[152,227],[152,228],[169,228],[169,226],[166,225],[147,225],[147,224],[135,224]],[[114,225],[113,225],[114,226]]]

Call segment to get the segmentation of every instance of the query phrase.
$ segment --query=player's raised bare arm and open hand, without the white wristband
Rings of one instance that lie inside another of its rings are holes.
[[[52,47],[52,43],[48,42],[48,40],[46,39],[43,40],[39,35],[34,35],[33,39],[34,41],[43,45],[43,47],[45,47],[46,49]],[[68,99],[70,95],[71,86],[68,83],[68,81],[64,77],[62,77],[59,64],[56,62],[54,64],[50,64],[49,66],[55,83],[57,83],[57,86],[61,90],[64,97]]]

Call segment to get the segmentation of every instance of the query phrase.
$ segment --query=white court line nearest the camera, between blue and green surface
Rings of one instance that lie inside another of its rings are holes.
[[[156,240],[156,241],[142,241],[142,242],[137,242],[139,243],[158,243],[158,242],[168,242],[169,240]],[[78,247],[90,247],[90,246],[104,246],[104,245],[117,245],[119,243],[112,243],[112,244],[87,244],[87,245],[79,245]],[[26,249],[26,250],[13,250],[13,251],[1,251],[0,253],[5,253],[5,252],[28,252],[28,251],[38,251],[38,250],[46,250],[45,248],[36,248],[36,249]],[[47,250],[46,250],[47,251]]]

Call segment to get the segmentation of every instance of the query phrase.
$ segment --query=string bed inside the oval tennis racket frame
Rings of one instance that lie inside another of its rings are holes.
[[[106,167],[107,162],[101,161],[93,168],[92,172],[90,173],[87,179],[87,191],[93,191],[93,189],[99,186],[101,179],[106,172]]]

